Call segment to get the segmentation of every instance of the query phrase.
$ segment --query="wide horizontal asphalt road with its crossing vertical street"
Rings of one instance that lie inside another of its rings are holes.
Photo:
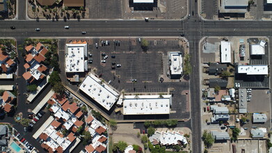
[[[20,2],[21,3],[21,2]],[[19,7],[20,8],[20,7]],[[29,37],[179,37],[181,33],[189,40],[191,65],[191,127],[193,131],[193,152],[201,152],[201,126],[200,126],[200,75],[198,42],[202,37],[209,36],[268,36],[272,34],[272,22],[269,21],[203,21],[198,17],[198,6],[195,1],[189,1],[189,13],[194,11],[190,19],[183,21],[150,20],[95,20],[95,21],[26,21],[25,7],[19,9],[19,20],[1,21],[1,37],[14,37],[22,43],[24,38]],[[182,25],[183,24],[183,25]],[[11,30],[10,26],[15,26]],[[70,29],[64,29],[70,26]],[[40,28],[40,31],[35,31]],[[86,31],[82,35],[81,31]],[[20,55],[20,54],[19,54]],[[22,57],[19,57],[22,62]],[[19,76],[22,75],[22,66],[19,65]],[[18,79],[19,90],[25,90],[25,82]],[[19,97],[20,101],[25,97]]]

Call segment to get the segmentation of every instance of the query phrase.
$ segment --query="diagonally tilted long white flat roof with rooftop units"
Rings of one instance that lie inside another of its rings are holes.
[[[110,110],[118,100],[119,93],[103,83],[93,74],[89,74],[79,86],[79,89],[98,102],[101,106]]]

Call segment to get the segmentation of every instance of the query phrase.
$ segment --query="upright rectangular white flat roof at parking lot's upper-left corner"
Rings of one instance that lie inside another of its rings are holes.
[[[65,47],[65,70],[66,72],[84,72],[87,56],[87,44],[66,44]]]

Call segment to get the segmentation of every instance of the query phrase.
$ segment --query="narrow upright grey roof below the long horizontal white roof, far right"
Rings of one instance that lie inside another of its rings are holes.
[[[239,113],[248,113],[248,101],[246,99],[247,92],[244,88],[239,88]]]

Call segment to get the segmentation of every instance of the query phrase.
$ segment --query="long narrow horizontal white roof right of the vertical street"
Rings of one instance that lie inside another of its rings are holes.
[[[266,75],[269,74],[269,67],[268,65],[238,65],[238,73]]]

